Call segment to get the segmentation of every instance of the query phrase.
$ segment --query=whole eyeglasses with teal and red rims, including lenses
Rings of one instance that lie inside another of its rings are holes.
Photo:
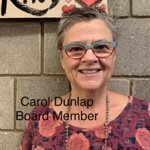
[[[117,43],[114,41],[98,41],[91,45],[80,42],[66,44],[63,49],[68,57],[78,59],[84,57],[89,49],[92,49],[97,57],[107,57],[113,53],[115,47],[117,47]]]

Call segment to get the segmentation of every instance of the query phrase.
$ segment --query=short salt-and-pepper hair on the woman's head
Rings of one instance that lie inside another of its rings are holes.
[[[112,32],[113,40],[117,41],[118,34],[115,21],[107,16],[104,11],[91,7],[75,8],[71,12],[64,13],[63,17],[60,19],[57,31],[57,49],[62,49],[65,32],[67,32],[68,29],[76,23],[81,21],[87,22],[93,19],[102,20]]]

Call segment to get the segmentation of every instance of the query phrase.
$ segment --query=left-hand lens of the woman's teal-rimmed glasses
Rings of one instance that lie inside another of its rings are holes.
[[[80,45],[69,46],[66,53],[72,58],[81,58],[85,53],[85,48]]]

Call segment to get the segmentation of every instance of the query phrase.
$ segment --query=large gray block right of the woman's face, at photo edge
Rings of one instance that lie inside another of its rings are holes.
[[[118,21],[120,38],[115,75],[150,75],[150,19],[127,18]]]

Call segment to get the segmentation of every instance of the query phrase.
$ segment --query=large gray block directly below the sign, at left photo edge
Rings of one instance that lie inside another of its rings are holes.
[[[40,74],[40,23],[0,23],[0,74]]]

